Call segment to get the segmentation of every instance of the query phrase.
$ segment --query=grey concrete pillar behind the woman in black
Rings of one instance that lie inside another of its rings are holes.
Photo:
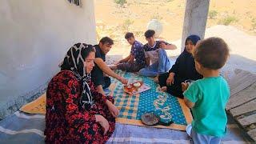
[[[197,34],[200,38],[204,38],[209,5],[210,0],[186,0],[182,51],[184,50],[186,37],[190,34]]]

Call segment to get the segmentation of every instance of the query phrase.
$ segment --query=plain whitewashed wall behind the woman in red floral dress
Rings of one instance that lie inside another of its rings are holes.
[[[0,102],[44,85],[75,42],[95,44],[94,1],[0,1]]]

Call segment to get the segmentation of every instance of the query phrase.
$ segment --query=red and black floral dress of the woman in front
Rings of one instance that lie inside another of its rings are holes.
[[[85,110],[79,102],[82,83],[71,71],[62,70],[51,79],[46,92],[46,143],[105,143],[113,134],[115,119],[105,102],[114,99],[98,93],[93,82],[88,84],[94,105]],[[94,114],[101,114],[109,122],[105,135]]]

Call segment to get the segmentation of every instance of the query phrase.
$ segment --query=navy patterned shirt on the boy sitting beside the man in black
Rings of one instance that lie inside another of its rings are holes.
[[[143,45],[141,42],[135,41],[133,46],[131,46],[130,54],[135,57],[135,62],[138,65],[145,65],[145,54],[143,50]]]

